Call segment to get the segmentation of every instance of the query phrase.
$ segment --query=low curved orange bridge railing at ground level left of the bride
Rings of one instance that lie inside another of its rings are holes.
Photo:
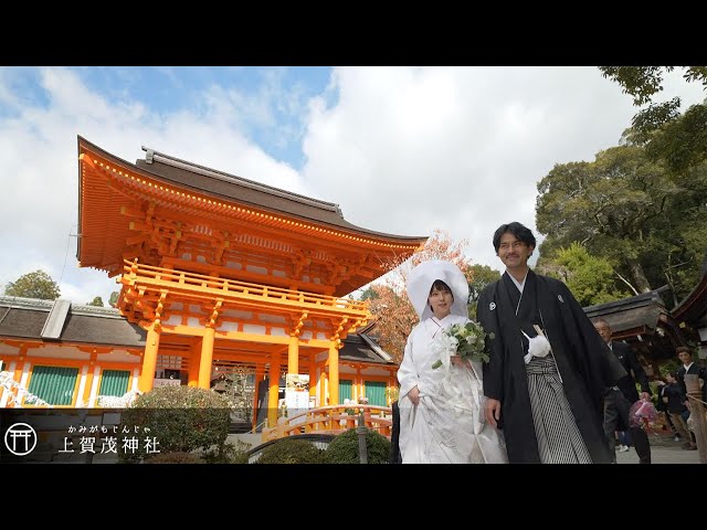
[[[363,413],[365,425],[390,438],[392,410],[379,405],[327,405],[310,409],[287,417],[278,425],[263,430],[263,442],[295,434],[319,433],[340,434],[358,426],[358,417]]]

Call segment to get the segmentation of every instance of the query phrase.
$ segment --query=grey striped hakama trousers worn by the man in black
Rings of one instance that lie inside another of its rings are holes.
[[[542,464],[591,464],[552,356],[526,364],[532,423]]]

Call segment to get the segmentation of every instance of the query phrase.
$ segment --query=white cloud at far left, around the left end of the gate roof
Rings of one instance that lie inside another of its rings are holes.
[[[212,110],[205,117],[196,109],[160,116],[140,102],[108,102],[65,68],[43,70],[41,89],[49,100],[45,106],[20,106],[24,99],[11,92],[3,96],[7,108],[11,102],[17,114],[0,113],[0,184],[4,191],[0,293],[9,282],[36,268],[61,284],[63,298],[76,303],[101,296],[107,304],[110,293],[118,290],[105,272],[76,266],[76,237],[70,234],[76,234],[78,219],[77,135],[131,162],[144,158],[140,146],[146,146],[300,191],[294,169],[268,157],[219,116],[219,109],[230,108],[229,100],[204,95],[201,103]]]

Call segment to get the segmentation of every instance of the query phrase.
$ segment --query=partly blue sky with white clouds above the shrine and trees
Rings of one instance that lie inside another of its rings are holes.
[[[675,74],[661,97],[701,102],[693,85]],[[442,229],[500,269],[494,230],[535,230],[536,183],[618,145],[635,112],[589,66],[0,67],[0,293],[38,268],[78,304],[117,290],[77,267],[77,135],[336,202],[370,230]]]

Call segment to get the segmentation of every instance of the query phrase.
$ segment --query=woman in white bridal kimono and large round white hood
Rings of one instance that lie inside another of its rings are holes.
[[[484,420],[482,363],[440,359],[442,330],[466,324],[468,284],[454,264],[432,259],[408,279],[420,316],[405,344],[400,381],[400,453],[403,464],[506,464],[503,435]]]

